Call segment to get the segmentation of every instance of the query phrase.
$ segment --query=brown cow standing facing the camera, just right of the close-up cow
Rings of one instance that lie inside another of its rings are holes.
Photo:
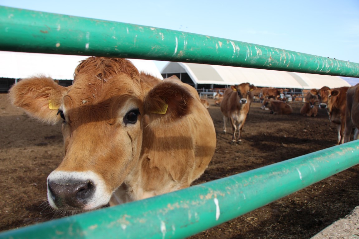
[[[220,109],[223,114],[223,132],[227,132],[227,121],[232,125],[232,142],[241,142],[244,123],[253,101],[252,91],[257,87],[250,83],[234,85],[224,91]],[[236,133],[238,137],[236,137]]]

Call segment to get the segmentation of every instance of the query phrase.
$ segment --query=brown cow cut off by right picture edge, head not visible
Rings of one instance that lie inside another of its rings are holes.
[[[349,87],[346,92],[344,143],[350,141],[353,128],[355,128],[353,139],[359,139],[359,83]]]

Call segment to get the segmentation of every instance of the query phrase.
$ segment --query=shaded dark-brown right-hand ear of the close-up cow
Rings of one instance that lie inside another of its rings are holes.
[[[162,81],[146,94],[144,110],[151,125],[171,123],[190,113],[193,100],[186,87]]]

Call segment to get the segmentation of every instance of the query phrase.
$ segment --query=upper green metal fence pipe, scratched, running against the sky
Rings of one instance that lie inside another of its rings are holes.
[[[359,64],[218,37],[0,6],[0,50],[359,77]]]

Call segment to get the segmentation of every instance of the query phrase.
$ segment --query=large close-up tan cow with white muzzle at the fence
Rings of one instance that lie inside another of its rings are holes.
[[[186,188],[214,154],[213,121],[197,91],[139,73],[126,59],[89,57],[72,86],[30,77],[10,98],[34,118],[62,122],[65,157],[47,178],[54,209],[87,211]]]

